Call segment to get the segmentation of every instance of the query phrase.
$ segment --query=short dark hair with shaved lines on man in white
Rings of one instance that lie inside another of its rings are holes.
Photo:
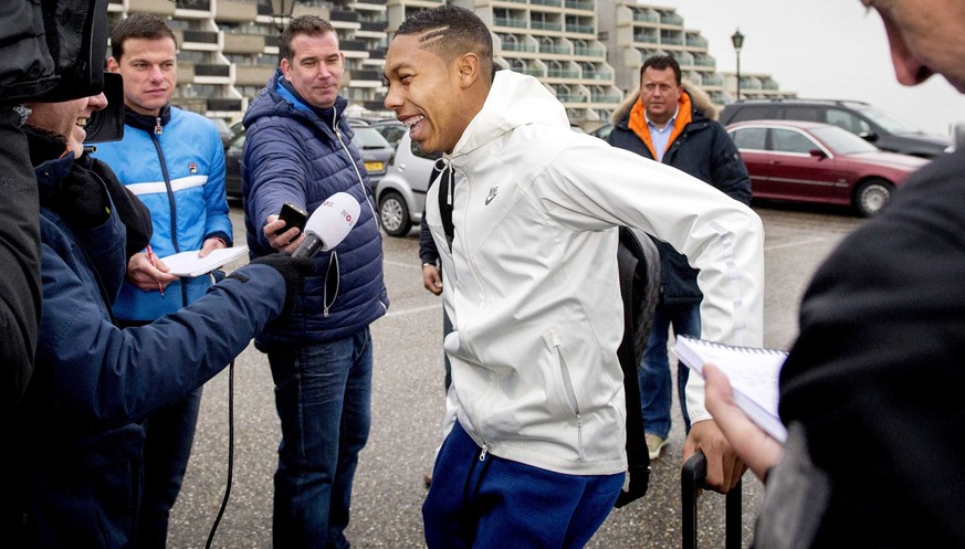
[[[493,36],[482,19],[465,8],[440,6],[409,15],[397,36],[419,35],[422,47],[452,61],[464,53],[475,53],[484,66],[483,74],[493,74]]]

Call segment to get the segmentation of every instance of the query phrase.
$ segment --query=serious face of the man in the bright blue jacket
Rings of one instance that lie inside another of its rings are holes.
[[[127,39],[120,59],[107,60],[107,70],[124,77],[124,104],[135,113],[157,116],[171,101],[178,82],[175,41]]]

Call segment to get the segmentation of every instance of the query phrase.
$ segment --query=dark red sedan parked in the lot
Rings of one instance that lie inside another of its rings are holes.
[[[731,124],[754,198],[852,207],[870,217],[929,161],[877,149],[838,126],[796,120]]]

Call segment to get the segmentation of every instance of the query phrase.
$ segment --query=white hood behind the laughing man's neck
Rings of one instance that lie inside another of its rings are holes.
[[[463,131],[452,156],[472,152],[526,124],[569,130],[566,108],[538,80],[508,70],[497,71],[482,109]]]

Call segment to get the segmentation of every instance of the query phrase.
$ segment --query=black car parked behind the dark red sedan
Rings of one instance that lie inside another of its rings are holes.
[[[929,135],[896,116],[857,101],[745,99],[721,112],[723,125],[745,120],[806,120],[833,124],[881,150],[934,158],[951,150],[948,137]]]

